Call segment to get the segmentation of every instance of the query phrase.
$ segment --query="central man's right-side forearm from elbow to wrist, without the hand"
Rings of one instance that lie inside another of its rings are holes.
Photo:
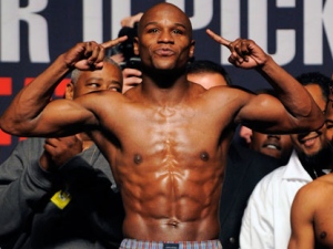
[[[292,75],[278,65],[271,56],[262,66],[258,68],[258,71],[274,87],[279,100],[290,114],[300,121],[299,123],[304,126],[311,124],[313,129],[323,125],[322,111],[309,92]]]

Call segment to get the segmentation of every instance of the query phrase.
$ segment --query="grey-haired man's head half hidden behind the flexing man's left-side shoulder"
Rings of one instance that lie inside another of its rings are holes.
[[[122,91],[122,72],[120,66],[109,58],[104,58],[101,70],[73,70],[71,82],[65,89],[65,98],[73,100],[90,92],[102,90]]]

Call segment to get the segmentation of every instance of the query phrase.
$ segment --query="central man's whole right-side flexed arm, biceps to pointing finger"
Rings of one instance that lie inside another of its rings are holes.
[[[211,30],[206,32],[230,50],[230,63],[242,69],[255,69],[265,77],[282,103],[274,97],[250,97],[240,112],[240,122],[263,133],[314,131],[324,124],[323,112],[309,92],[255,42],[245,39],[231,42]]]

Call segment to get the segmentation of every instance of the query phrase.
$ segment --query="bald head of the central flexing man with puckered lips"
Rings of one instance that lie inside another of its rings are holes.
[[[184,70],[194,52],[190,19],[171,3],[152,7],[140,19],[134,52],[143,71]]]

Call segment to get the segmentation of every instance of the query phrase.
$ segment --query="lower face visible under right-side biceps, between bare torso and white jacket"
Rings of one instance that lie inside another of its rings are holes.
[[[282,164],[286,164],[293,151],[290,135],[262,134],[252,131],[251,149],[275,157]]]

